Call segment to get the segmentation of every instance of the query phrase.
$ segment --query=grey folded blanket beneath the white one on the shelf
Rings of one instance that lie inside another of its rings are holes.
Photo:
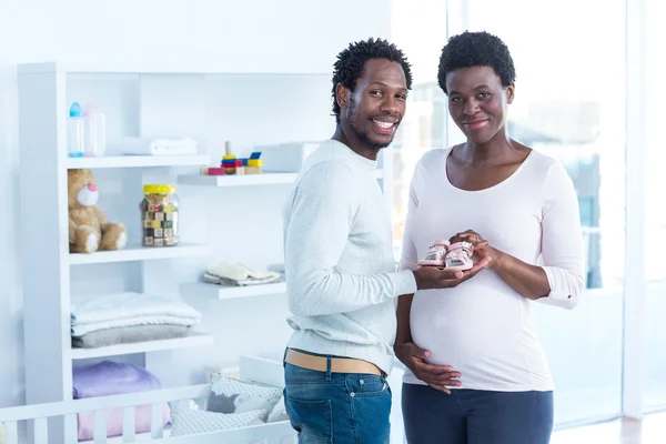
[[[185,325],[131,325],[115,329],[104,329],[72,337],[72,346],[79,349],[95,349],[115,344],[129,344],[144,341],[170,340],[186,336],[190,327]]]

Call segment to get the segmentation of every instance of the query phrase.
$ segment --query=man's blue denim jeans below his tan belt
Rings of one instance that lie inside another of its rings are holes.
[[[284,364],[284,404],[301,444],[389,444],[391,389],[382,376]]]

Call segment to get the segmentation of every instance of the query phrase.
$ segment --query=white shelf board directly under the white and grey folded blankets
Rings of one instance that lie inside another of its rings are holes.
[[[71,349],[70,356],[72,360],[87,360],[91,357],[119,356],[134,353],[212,345],[213,343],[213,335],[192,333],[189,336],[175,337],[172,340],[135,342],[132,344],[109,345],[98,349]]]

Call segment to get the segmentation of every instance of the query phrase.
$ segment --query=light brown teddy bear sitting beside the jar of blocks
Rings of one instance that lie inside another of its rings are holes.
[[[122,250],[128,232],[122,223],[109,222],[97,206],[98,186],[92,171],[68,170],[69,241],[71,253]]]

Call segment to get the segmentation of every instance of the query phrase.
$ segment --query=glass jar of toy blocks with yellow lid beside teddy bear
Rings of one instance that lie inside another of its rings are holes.
[[[143,246],[171,246],[179,243],[179,201],[175,186],[143,185],[140,208]]]

